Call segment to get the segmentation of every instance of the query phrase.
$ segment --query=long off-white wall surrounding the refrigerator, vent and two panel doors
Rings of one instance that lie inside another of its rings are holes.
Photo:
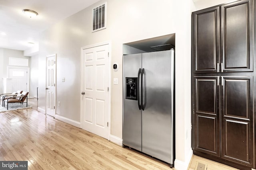
[[[107,28],[92,33],[92,8],[107,2]],[[122,139],[122,45],[176,33],[176,160],[187,168],[191,150],[191,11],[192,0],[104,0],[53,25],[40,36],[38,76],[40,110],[45,108],[46,56],[57,54],[56,113],[80,122],[80,48],[110,41],[111,135]],[[65,77],[66,82],[62,82]],[[113,78],[120,84],[113,85]]]

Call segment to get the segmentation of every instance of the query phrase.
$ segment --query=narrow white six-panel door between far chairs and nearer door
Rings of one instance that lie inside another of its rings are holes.
[[[46,57],[46,114],[56,113],[56,55]]]

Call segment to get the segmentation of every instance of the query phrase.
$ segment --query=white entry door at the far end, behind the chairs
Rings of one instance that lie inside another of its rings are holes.
[[[27,67],[8,67],[7,69],[9,78],[12,78],[11,84],[8,85],[11,86],[11,92],[17,90],[29,92],[30,69]]]

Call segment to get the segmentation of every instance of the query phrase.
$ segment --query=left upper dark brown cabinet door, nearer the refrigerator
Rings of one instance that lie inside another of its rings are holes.
[[[192,64],[194,72],[218,72],[219,9],[219,7],[213,7],[192,14]]]

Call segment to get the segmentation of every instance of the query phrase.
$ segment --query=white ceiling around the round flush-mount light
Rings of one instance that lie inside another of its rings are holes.
[[[38,43],[41,31],[98,1],[0,0],[0,48],[29,49]],[[29,18],[24,9],[34,10],[38,16]]]

